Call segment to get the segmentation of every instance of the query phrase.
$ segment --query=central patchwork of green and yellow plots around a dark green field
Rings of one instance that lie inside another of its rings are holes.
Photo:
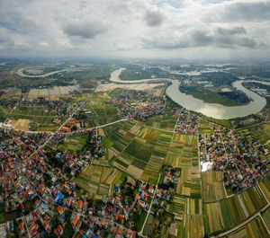
[[[131,122],[105,129],[109,163],[142,181],[156,183],[173,133]]]

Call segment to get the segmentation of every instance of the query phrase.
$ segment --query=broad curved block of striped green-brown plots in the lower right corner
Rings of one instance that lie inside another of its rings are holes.
[[[266,199],[254,186],[219,202],[203,204],[206,234],[215,234],[243,222],[266,206]]]

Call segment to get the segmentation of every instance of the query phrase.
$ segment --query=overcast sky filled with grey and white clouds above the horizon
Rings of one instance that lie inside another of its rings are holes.
[[[270,0],[0,0],[0,56],[252,58]]]

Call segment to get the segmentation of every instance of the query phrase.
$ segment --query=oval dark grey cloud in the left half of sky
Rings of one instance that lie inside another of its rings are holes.
[[[63,27],[64,32],[71,37],[92,39],[108,31],[108,27],[101,22],[71,22]]]

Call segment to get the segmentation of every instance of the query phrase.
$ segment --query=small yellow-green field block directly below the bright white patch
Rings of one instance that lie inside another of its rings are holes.
[[[226,198],[223,186],[223,172],[202,172],[203,203],[214,202]]]

